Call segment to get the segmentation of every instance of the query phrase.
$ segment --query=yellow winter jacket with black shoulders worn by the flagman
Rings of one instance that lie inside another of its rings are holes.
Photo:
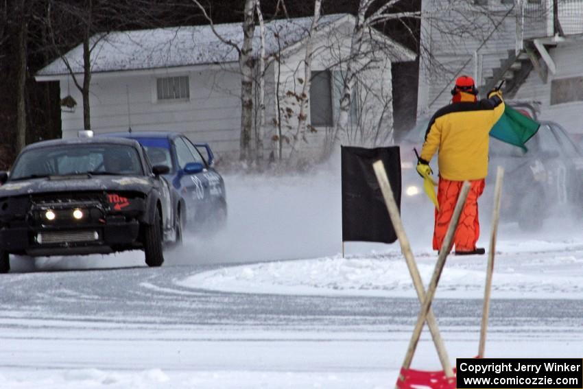
[[[466,95],[466,93],[463,93]],[[473,99],[473,95],[471,96]],[[504,113],[501,93],[479,102],[452,103],[429,121],[421,159],[429,163],[439,149],[439,174],[447,180],[479,180],[488,175],[488,137]]]

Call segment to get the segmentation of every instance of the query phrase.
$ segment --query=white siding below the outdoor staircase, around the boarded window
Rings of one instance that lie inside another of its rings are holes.
[[[583,102],[551,105],[551,81],[561,78],[583,77],[583,41],[561,44],[549,50],[557,72],[549,73],[543,84],[536,71],[532,71],[514,97],[515,100],[540,102],[540,119],[560,123],[571,134],[583,134]]]

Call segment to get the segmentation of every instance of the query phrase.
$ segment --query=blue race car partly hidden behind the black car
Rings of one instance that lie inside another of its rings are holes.
[[[152,165],[169,167],[165,178],[180,197],[178,207],[187,228],[215,231],[226,224],[225,184],[212,167],[214,156],[208,144],[193,144],[177,132],[116,132],[103,136],[135,139]],[[206,158],[199,148],[204,149]]]

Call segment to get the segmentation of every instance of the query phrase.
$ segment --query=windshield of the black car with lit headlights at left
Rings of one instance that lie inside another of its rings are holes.
[[[35,148],[19,156],[10,180],[73,174],[142,175],[139,155],[127,145],[62,144]]]

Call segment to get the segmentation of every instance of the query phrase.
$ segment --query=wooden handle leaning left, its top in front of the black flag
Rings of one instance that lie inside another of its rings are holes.
[[[387,172],[385,171],[385,167],[382,161],[373,163],[372,167],[374,168],[374,173],[377,175],[377,180],[379,181],[381,191],[383,192],[385,204],[387,206],[393,228],[395,229],[396,236],[398,237],[399,244],[401,244],[401,251],[405,257],[407,268],[409,268],[409,274],[411,274],[411,278],[413,279],[413,285],[415,286],[417,297],[419,298],[419,301],[423,303],[423,300],[425,300],[425,288],[423,287],[423,281],[421,280],[419,270],[415,263],[415,258],[413,257],[409,239],[407,238],[407,234],[405,234],[405,228],[403,227],[403,222],[401,221],[401,216],[399,215],[398,207],[396,206],[396,201],[394,200],[393,191],[387,177]],[[429,331],[431,332],[433,344],[436,346],[436,350],[438,352],[438,356],[446,377],[453,377],[453,370],[451,368],[451,363],[449,362],[447,350],[443,344],[437,320],[435,316],[433,316],[433,311],[431,309],[429,309],[427,314],[427,327],[429,327]]]

